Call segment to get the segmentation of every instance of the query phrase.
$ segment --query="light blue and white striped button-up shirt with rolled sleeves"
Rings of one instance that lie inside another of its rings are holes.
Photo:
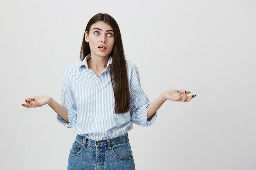
[[[63,126],[93,140],[112,139],[133,128],[133,123],[147,127],[152,125],[157,113],[148,120],[147,106],[150,101],[140,86],[137,66],[126,60],[130,88],[130,108],[125,114],[114,113],[115,97],[110,78],[110,55],[107,67],[97,77],[88,68],[88,54],[83,61],[67,66],[63,72],[62,106],[67,109],[67,123],[62,117],[56,119]]]

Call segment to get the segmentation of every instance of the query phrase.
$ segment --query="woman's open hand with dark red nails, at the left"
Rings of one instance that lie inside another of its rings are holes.
[[[22,103],[21,105],[26,108],[36,108],[41,107],[45,104],[50,104],[52,101],[52,98],[45,95],[39,95],[31,98],[25,99],[26,104]]]

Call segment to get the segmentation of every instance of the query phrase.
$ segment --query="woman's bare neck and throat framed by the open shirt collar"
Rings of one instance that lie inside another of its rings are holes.
[[[92,70],[102,70],[107,67],[110,55],[97,56],[91,53],[91,57],[87,60],[88,68]]]

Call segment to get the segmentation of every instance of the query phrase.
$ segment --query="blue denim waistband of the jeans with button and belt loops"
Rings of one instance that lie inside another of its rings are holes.
[[[115,137],[115,138],[112,138],[112,139],[104,139],[104,140],[99,140],[99,141],[88,139],[87,137],[81,136],[81,135],[78,135],[78,134],[76,134],[76,139],[83,144],[84,148],[88,144],[88,145],[90,145],[92,147],[95,147],[95,148],[108,146],[109,149],[111,149],[112,146],[114,146],[114,145],[122,144],[124,142],[129,141],[128,132],[126,132],[126,135],[124,135],[124,136],[119,136],[119,137]]]

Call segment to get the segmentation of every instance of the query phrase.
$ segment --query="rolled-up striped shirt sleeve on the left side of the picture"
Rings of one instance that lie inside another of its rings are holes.
[[[67,69],[65,69],[63,73],[63,88],[61,91],[61,105],[67,109],[68,113],[68,120],[70,123],[67,123],[62,117],[58,114],[56,115],[56,119],[60,122],[63,126],[67,128],[72,128],[72,126],[76,123],[77,119],[77,107],[76,101],[74,97],[74,93],[72,90],[72,86],[69,79],[69,73]]]

